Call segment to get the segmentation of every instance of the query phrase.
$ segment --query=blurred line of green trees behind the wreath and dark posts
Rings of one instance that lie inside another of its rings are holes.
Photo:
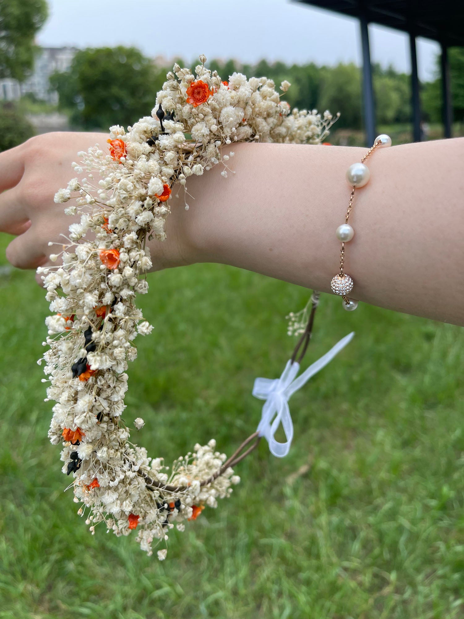
[[[453,112],[455,121],[464,119],[464,50],[449,50],[452,75]],[[177,59],[179,64],[185,64]],[[196,63],[193,63],[192,68]],[[438,74],[439,58],[437,58]],[[361,129],[363,105],[361,69],[353,63],[317,66],[314,63],[285,64],[261,60],[257,64],[241,64],[213,59],[210,69],[217,69],[223,79],[234,71],[247,77],[267,76],[276,84],[291,82],[285,98],[292,107],[308,110],[329,109],[341,112],[338,128]],[[51,77],[51,89],[59,93],[59,108],[69,114],[77,129],[108,128],[119,123],[127,126],[153,107],[156,93],[166,79],[169,66],[155,66],[153,61],[134,47],[88,48],[74,57],[69,71]],[[408,123],[411,119],[410,76],[393,67],[372,67],[376,120],[379,125]],[[423,120],[439,123],[441,111],[440,78],[421,84]]]

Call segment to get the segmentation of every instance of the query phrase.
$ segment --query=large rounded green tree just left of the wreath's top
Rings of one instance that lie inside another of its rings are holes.
[[[165,79],[166,70],[134,47],[88,48],[75,54],[69,71],[51,76],[50,87],[72,125],[107,129],[147,116]]]

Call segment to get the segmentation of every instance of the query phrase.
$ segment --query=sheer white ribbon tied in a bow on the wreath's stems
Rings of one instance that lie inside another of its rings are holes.
[[[323,357],[314,361],[314,363],[312,363],[301,376],[298,376],[298,378],[296,378],[296,374],[298,374],[299,371],[299,363],[297,361],[291,363],[290,360],[287,361],[285,370],[282,372],[280,378],[257,378],[254,381],[252,392],[254,397],[260,400],[266,400],[262,407],[261,421],[257,427],[257,432],[259,436],[264,436],[267,440],[270,452],[273,456],[283,458],[290,451],[291,439],[293,439],[293,423],[291,422],[290,409],[288,408],[288,400],[290,397],[295,391],[298,391],[300,387],[303,387],[311,376],[314,376],[314,374],[322,370],[329,361],[332,361],[333,357],[335,357],[342,348],[345,348],[346,344],[351,342],[353,337],[354,332],[345,335],[340,342],[337,342],[333,348],[330,348],[329,352],[325,353]],[[275,419],[274,415],[276,415]],[[286,443],[278,443],[274,438],[280,423],[285,432]]]

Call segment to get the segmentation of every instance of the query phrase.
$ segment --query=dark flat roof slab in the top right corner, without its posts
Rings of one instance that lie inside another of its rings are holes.
[[[294,1],[351,17],[359,18],[364,14],[368,22],[413,32],[417,37],[440,41],[444,45],[464,45],[463,0]]]

